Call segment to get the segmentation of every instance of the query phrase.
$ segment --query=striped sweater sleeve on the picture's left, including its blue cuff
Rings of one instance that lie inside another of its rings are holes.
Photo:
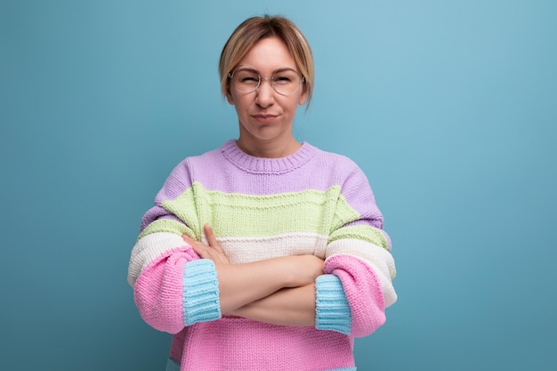
[[[182,239],[183,234],[198,238],[199,233],[184,173],[183,166],[174,169],[157,194],[155,206],[143,216],[128,267],[128,282],[141,318],[171,334],[221,318],[214,263],[199,259]]]

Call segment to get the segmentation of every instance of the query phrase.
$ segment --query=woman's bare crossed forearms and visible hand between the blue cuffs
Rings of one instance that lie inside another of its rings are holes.
[[[203,259],[214,262],[222,314],[275,325],[315,326],[315,279],[324,273],[323,260],[308,255],[282,256],[231,264],[204,227],[207,244],[183,239]]]

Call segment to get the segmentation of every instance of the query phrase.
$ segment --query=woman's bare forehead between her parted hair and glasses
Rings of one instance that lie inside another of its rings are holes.
[[[272,73],[277,69],[296,69],[295,60],[288,51],[287,44],[278,37],[263,38],[246,53],[238,64],[254,66],[262,73]]]

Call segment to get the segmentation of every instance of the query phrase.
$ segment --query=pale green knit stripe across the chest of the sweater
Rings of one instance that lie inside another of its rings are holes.
[[[205,223],[211,224],[221,237],[267,237],[293,232],[329,235],[359,218],[343,198],[340,186],[325,191],[258,196],[206,190],[194,182],[178,198],[167,200],[162,206],[190,230],[177,222],[157,221],[143,230],[141,236],[170,231],[198,238]]]

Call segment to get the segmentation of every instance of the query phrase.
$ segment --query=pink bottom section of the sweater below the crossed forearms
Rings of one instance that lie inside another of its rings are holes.
[[[170,356],[182,370],[324,371],[353,367],[352,349],[333,331],[224,317],[184,328]]]

